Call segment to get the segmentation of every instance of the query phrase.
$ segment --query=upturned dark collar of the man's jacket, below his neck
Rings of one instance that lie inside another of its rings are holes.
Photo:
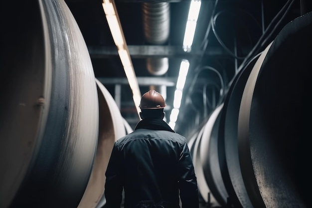
[[[162,119],[143,119],[137,124],[135,130],[137,129],[165,130],[175,133]]]

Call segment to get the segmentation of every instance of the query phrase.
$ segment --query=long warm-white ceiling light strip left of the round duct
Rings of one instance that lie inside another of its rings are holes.
[[[140,116],[140,101],[141,101],[141,92],[139,88],[138,79],[133,68],[133,64],[130,58],[130,53],[128,46],[126,44],[126,39],[121,27],[119,16],[117,13],[116,5],[114,0],[103,0],[102,6],[105,12],[105,16],[111,30],[115,45],[118,48],[118,54],[120,60],[123,64],[130,88],[133,94],[133,101],[135,103],[138,116]]]

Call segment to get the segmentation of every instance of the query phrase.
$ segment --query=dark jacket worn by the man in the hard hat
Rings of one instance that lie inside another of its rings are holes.
[[[198,208],[186,139],[160,119],[144,119],[117,140],[106,171],[104,208]]]

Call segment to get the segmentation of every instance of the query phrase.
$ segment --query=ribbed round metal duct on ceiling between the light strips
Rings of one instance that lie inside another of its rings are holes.
[[[160,45],[169,37],[170,7],[168,2],[142,3],[144,36],[148,43]],[[163,75],[169,67],[168,58],[147,58],[148,71]]]

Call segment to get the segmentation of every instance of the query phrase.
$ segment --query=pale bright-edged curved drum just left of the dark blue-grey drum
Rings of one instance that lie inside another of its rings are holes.
[[[222,111],[223,105],[222,103],[216,107],[209,116],[202,133],[197,154],[199,154],[205,180],[211,194],[221,206],[226,206],[228,194],[222,180],[218,158],[218,130],[220,112]]]

